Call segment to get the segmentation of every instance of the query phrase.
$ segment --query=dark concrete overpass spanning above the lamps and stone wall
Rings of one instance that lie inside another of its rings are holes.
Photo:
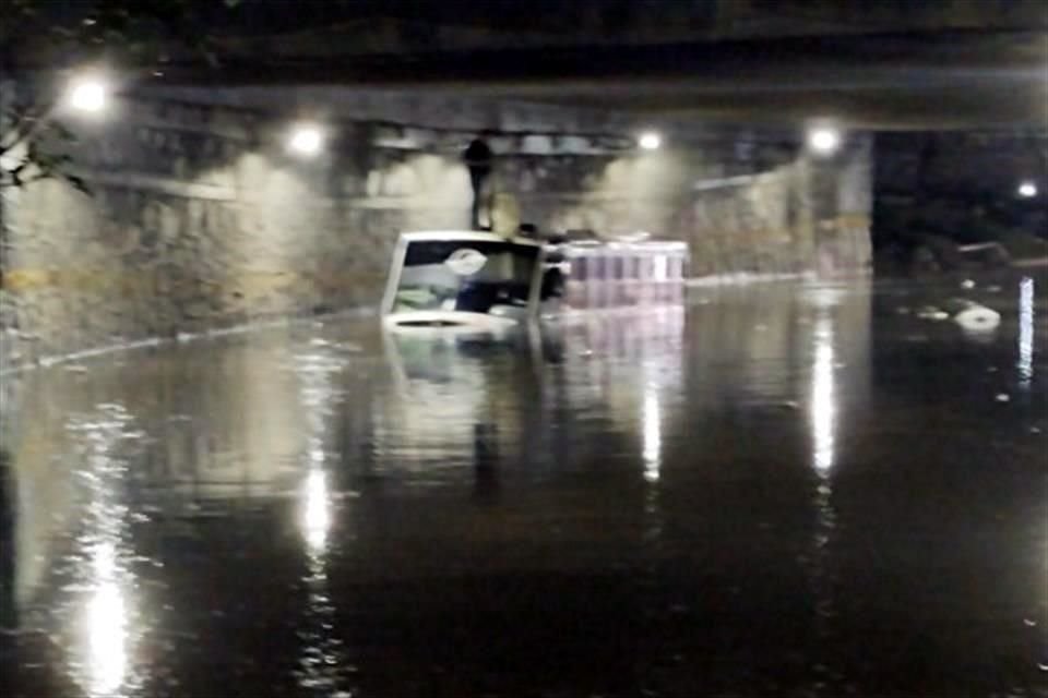
[[[168,35],[205,39],[214,60],[201,60],[200,46],[165,46],[153,82],[453,92],[730,123],[813,113],[880,129],[1048,120],[1039,0],[228,4],[158,15]],[[39,26],[22,23],[5,37],[13,70],[53,68],[70,53],[38,36],[48,22],[90,21],[90,10],[49,2]],[[141,24],[129,33],[148,40],[156,27]]]

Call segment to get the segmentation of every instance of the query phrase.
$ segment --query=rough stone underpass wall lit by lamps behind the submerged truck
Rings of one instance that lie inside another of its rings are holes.
[[[373,304],[400,231],[468,225],[458,155],[484,118],[502,130],[495,189],[525,221],[683,238],[693,275],[867,264],[862,139],[826,161],[752,133],[639,154],[629,132],[597,133],[610,117],[585,131],[585,112],[561,110],[579,132],[553,137],[549,107],[460,101],[456,122],[443,103],[396,105],[420,125],[329,124],[313,160],[284,151],[286,118],[228,105],[129,101],[118,122],[82,125],[94,196],[57,181],[7,192],[5,368]]]

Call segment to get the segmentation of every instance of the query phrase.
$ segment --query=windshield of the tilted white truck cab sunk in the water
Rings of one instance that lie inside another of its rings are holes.
[[[537,245],[509,241],[412,241],[391,310],[487,313],[496,305],[526,308],[538,253]]]

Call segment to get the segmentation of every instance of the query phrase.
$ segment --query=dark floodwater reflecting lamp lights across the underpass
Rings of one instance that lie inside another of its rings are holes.
[[[1048,278],[999,284],[24,374],[0,696],[1046,696]]]

